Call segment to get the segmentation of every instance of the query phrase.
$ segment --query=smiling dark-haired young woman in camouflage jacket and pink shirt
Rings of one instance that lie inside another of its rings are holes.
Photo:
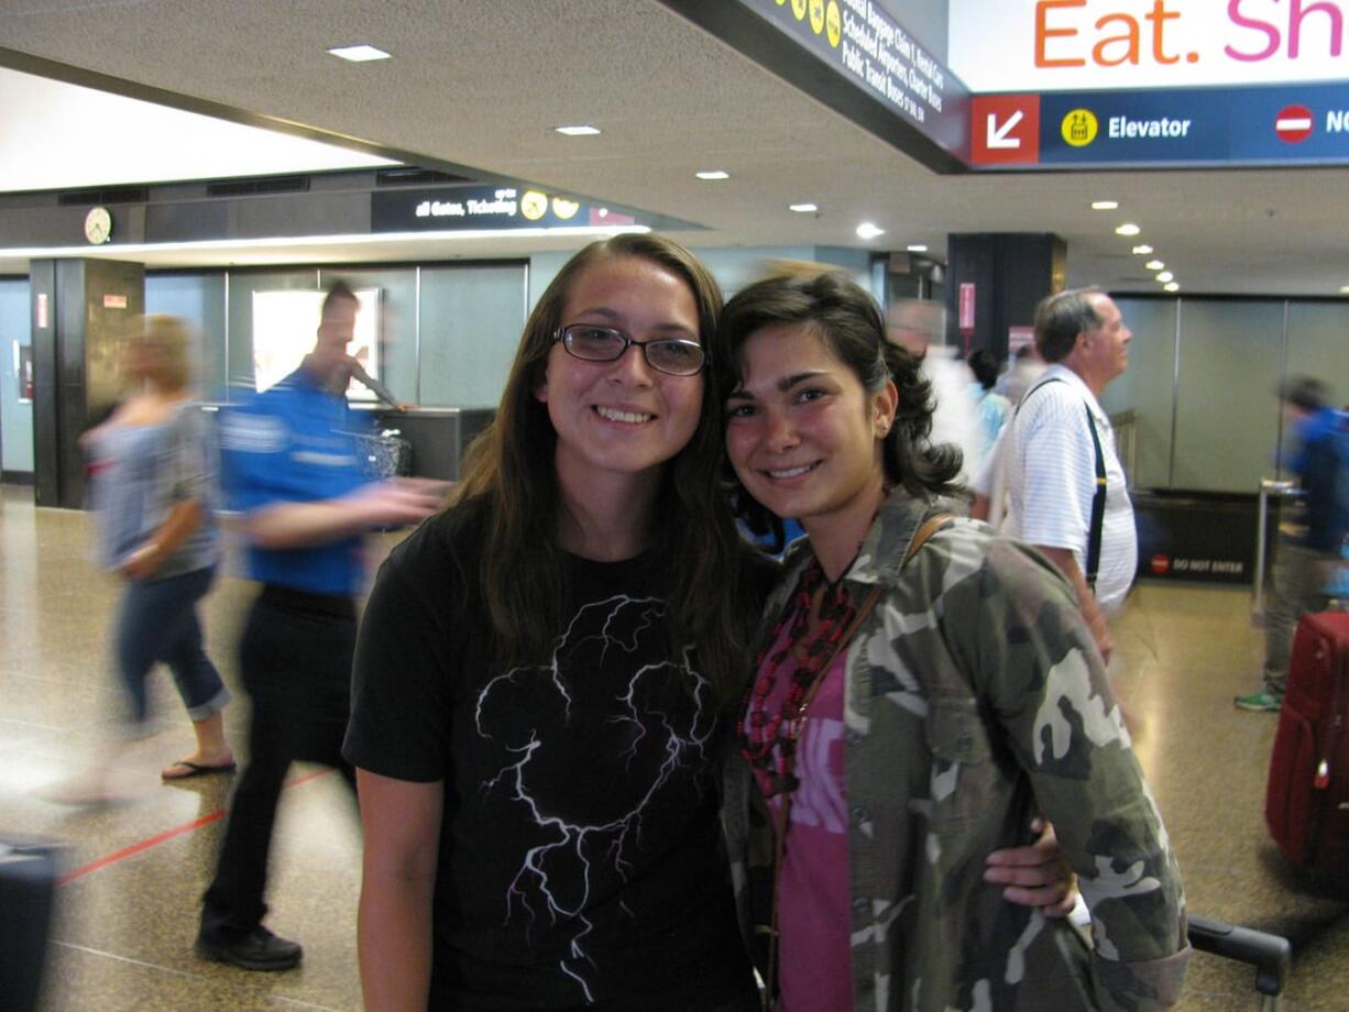
[[[742,912],[773,911],[776,1008],[1172,1004],[1180,876],[1101,657],[1051,563],[924,522],[959,456],[929,444],[931,391],[870,296],[838,274],[747,287],[714,375],[741,513],[808,534],[765,611],[724,799]],[[1037,811],[1090,935],[987,881]]]

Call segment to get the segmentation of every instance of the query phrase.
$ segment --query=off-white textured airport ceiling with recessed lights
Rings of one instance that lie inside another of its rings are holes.
[[[353,42],[393,59],[325,51]],[[657,0],[0,0],[0,65],[19,70],[77,84],[108,76],[125,85],[104,86],[179,108],[696,223],[674,233],[691,246],[924,243],[943,259],[952,232],[1054,232],[1074,285],[1157,291],[1145,258],[1130,255],[1140,242],[1182,293],[1337,296],[1349,285],[1346,169],[938,175]],[[568,123],[603,134],[554,132]],[[707,169],[730,179],[695,178]],[[1101,198],[1120,210],[1091,210]],[[788,209],[801,201],[819,213]],[[1125,220],[1141,225],[1139,239],[1114,235]],[[863,243],[862,221],[885,233]],[[579,242],[329,255],[522,255]],[[304,248],[228,260],[263,256],[316,259]]]

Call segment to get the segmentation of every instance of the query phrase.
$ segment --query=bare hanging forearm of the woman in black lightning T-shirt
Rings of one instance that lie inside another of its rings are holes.
[[[356,945],[367,1012],[425,1012],[432,967],[441,781],[356,770],[362,860]]]

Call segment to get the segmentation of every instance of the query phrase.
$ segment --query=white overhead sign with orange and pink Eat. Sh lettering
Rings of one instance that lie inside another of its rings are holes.
[[[971,92],[1194,88],[1349,77],[1349,0],[950,0]]]

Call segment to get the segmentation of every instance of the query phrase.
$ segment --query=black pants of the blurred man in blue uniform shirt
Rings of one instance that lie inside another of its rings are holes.
[[[267,915],[267,854],[291,762],[336,766],[355,792],[355,770],[341,757],[355,648],[349,598],[268,584],[254,602],[239,644],[240,673],[252,699],[248,764],[202,904],[202,936],[233,942]]]

